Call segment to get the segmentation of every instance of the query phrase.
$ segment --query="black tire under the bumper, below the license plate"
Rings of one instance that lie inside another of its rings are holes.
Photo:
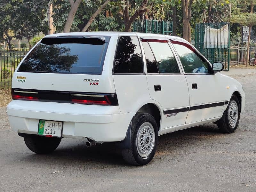
[[[28,135],[24,136],[24,141],[31,151],[46,154],[51,153],[59,146],[61,138]]]

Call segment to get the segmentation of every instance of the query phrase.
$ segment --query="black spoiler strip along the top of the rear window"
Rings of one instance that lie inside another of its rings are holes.
[[[105,37],[102,37],[102,36],[53,36],[53,37],[43,38],[41,43],[46,45],[71,44],[71,43],[103,45],[105,44]]]

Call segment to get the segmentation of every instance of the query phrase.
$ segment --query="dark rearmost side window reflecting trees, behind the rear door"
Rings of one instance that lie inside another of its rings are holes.
[[[113,68],[114,73],[143,73],[141,49],[137,36],[120,36]]]

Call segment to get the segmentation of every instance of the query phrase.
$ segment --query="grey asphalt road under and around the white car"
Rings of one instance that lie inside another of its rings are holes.
[[[214,124],[165,134],[148,165],[124,163],[105,143],[63,139],[50,155],[29,151],[0,108],[0,191],[256,191],[256,74],[236,76],[246,108],[235,133]],[[51,173],[59,171],[56,173]]]

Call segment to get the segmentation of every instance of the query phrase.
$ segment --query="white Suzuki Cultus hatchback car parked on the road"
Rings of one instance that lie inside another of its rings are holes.
[[[52,152],[61,138],[115,142],[126,162],[143,165],[164,133],[211,122],[236,130],[245,94],[221,70],[179,37],[48,35],[15,70],[7,114],[35,153]]]

